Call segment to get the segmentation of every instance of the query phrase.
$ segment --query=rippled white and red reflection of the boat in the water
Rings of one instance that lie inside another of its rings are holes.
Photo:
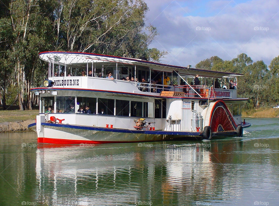
[[[38,199],[48,205],[212,204],[223,196],[235,201],[243,190],[226,185],[232,180],[225,165],[233,163],[229,154],[242,143],[224,145],[217,141],[121,147],[39,144]]]

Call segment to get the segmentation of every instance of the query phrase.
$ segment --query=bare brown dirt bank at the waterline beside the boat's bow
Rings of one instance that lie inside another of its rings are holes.
[[[0,123],[0,132],[15,132],[28,130],[28,125],[34,123],[35,120],[24,120],[20,122],[3,122]]]

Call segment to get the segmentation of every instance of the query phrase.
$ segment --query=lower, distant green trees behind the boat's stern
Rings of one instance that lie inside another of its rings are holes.
[[[279,102],[279,56],[275,57],[269,69],[263,61],[253,63],[247,54],[239,54],[231,61],[223,61],[217,56],[205,59],[196,68],[243,74],[237,78],[239,97],[249,98],[244,109],[259,109]]]

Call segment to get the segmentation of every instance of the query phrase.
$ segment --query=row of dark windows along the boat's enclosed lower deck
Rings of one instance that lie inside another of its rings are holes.
[[[49,107],[51,112],[56,113],[78,113],[81,108],[85,113],[88,113],[88,108],[91,114],[104,114],[116,116],[133,116],[145,118],[165,118],[166,116],[166,101],[155,100],[153,102],[140,102],[128,100],[115,100],[106,98],[91,98],[91,97],[41,97],[42,107],[41,113],[47,111]],[[86,106],[87,111],[86,111]],[[98,108],[98,110],[97,110]],[[153,114],[154,111],[154,114]],[[84,113],[84,112],[83,112]]]

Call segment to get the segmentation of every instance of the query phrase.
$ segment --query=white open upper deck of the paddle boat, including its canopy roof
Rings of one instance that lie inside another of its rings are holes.
[[[236,99],[237,89],[222,88],[224,83],[229,86],[231,79],[237,83],[237,77],[242,75],[200,70],[190,68],[190,65],[181,67],[90,53],[49,51],[40,53],[39,57],[49,63],[48,79],[54,82],[52,90],[96,91],[155,98],[178,96],[179,98]],[[92,77],[81,76],[81,72],[89,74],[90,71]],[[108,72],[112,73],[114,80],[97,77],[99,74],[105,77]],[[58,73],[58,77],[55,77],[55,73]],[[64,76],[61,76],[62,73]],[[191,84],[196,74],[199,74],[201,86]],[[121,80],[126,77],[138,78],[138,80],[143,77],[146,82]],[[221,81],[219,86],[215,85],[217,81]],[[180,94],[172,95],[177,93],[171,92],[180,92]]]

